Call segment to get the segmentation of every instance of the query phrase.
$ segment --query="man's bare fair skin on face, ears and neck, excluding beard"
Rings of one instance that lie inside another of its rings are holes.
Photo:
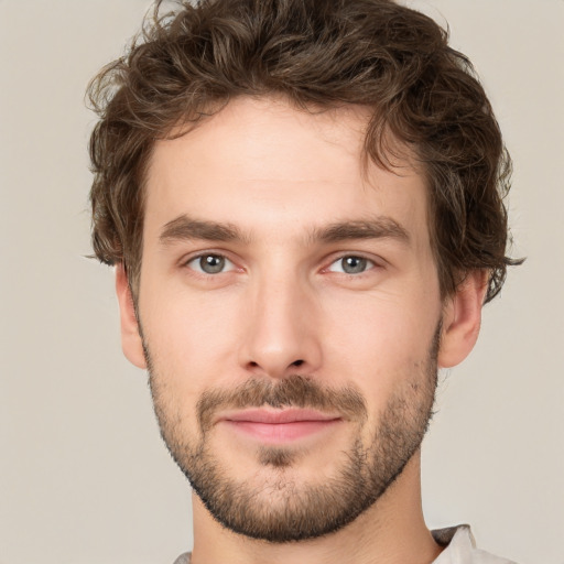
[[[334,477],[354,437],[369,445],[391,398],[423,390],[440,323],[440,367],[460,362],[479,330],[486,274],[469,273],[441,297],[424,177],[406,162],[393,172],[370,164],[365,174],[367,116],[356,107],[312,115],[281,99],[238,98],[189,133],[159,141],[147,178],[138,316],[117,270],[123,351],[147,368],[139,318],[162,410],[186,441],[202,438],[196,405],[209,390],[275,383],[299,367],[323,386],[360,392],[366,425],[340,421],[285,445],[294,464],[282,476],[299,487]],[[187,217],[229,225],[241,237],[166,235]],[[382,218],[402,235],[316,237],[337,223],[381,226]],[[226,257],[227,268],[198,271],[196,257],[206,252]],[[368,259],[366,270],[343,272],[344,256]],[[216,424],[208,446],[230,477],[253,476],[263,487],[281,470],[260,465],[259,443]],[[284,496],[265,488],[264,502],[275,507]],[[197,496],[193,506],[195,564],[423,564],[441,551],[423,520],[419,449],[377,503],[318,539],[249,539],[221,527]]]

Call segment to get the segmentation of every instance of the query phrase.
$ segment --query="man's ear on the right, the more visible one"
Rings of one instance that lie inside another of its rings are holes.
[[[458,365],[474,348],[480,332],[488,276],[486,270],[468,272],[455,293],[446,300],[438,349],[441,368]]]

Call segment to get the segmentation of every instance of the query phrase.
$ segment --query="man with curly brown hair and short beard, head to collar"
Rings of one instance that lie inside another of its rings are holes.
[[[507,563],[421,509],[437,369],[517,263],[509,155],[446,33],[390,0],[186,3],[90,98],[94,248],[192,562]]]

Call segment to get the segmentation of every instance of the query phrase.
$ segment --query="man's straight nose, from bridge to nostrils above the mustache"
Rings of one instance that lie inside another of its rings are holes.
[[[321,324],[313,294],[304,281],[288,273],[257,281],[243,312],[240,362],[246,371],[280,379],[318,370]]]

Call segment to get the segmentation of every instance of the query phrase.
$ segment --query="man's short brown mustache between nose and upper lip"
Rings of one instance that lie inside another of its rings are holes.
[[[220,410],[271,406],[337,411],[345,419],[365,420],[366,401],[354,387],[327,388],[301,375],[278,382],[248,380],[232,390],[207,390],[196,404],[200,429],[208,431]]]

